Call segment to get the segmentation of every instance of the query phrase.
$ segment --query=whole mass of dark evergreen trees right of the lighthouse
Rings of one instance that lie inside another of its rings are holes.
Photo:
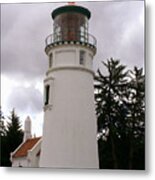
[[[98,70],[95,100],[100,168],[145,168],[145,93],[143,70],[127,71],[119,60]]]

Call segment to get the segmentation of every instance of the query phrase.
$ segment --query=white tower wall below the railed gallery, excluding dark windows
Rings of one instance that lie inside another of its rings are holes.
[[[80,50],[86,53],[84,65],[79,64]],[[51,52],[54,66],[45,80],[51,104],[44,108],[40,166],[98,168],[93,52],[68,45]]]

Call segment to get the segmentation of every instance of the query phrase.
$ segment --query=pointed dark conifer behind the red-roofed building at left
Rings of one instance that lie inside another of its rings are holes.
[[[23,140],[23,131],[19,117],[14,109],[5,127],[5,134],[1,136],[1,166],[11,166],[10,153],[13,152]]]

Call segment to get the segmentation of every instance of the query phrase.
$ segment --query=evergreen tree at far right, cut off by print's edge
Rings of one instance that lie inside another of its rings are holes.
[[[145,168],[145,76],[143,69],[134,67],[129,74],[128,124],[129,169]]]

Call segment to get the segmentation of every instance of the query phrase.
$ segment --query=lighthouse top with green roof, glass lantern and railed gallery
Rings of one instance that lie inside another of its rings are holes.
[[[68,4],[52,12],[53,34],[46,38],[46,47],[59,44],[83,44],[95,48],[96,39],[88,33],[88,9]]]

